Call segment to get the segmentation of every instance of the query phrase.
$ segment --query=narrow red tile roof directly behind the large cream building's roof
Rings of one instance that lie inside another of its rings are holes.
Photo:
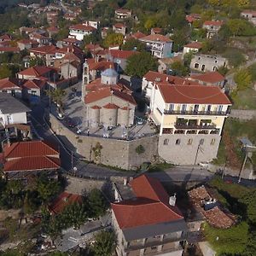
[[[148,71],[148,73],[146,73],[143,78],[150,82],[158,81],[158,82],[165,82],[169,84],[197,84],[198,85],[197,82],[191,81],[189,79],[185,79],[177,76],[171,76],[165,73],[158,73],[154,71]]]

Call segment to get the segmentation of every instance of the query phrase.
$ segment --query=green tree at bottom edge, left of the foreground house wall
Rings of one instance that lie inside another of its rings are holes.
[[[112,231],[101,231],[95,236],[96,242],[92,247],[96,256],[111,256],[115,249],[115,234]]]

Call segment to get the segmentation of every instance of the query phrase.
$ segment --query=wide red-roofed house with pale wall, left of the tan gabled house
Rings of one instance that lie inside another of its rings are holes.
[[[45,67],[45,66],[35,66],[29,67],[23,71],[17,73],[18,79],[45,79],[45,80],[54,80],[58,78],[56,75],[56,70],[52,67]]]

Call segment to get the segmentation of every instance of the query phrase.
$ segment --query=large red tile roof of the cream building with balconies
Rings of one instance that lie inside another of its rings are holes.
[[[157,84],[157,87],[166,103],[231,105],[218,86]]]

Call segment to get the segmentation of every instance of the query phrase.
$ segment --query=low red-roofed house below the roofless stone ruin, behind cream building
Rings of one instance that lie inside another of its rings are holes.
[[[220,88],[224,88],[225,78],[218,71],[212,71],[202,74],[195,74],[189,77],[189,80],[198,82],[202,85],[216,85]]]

